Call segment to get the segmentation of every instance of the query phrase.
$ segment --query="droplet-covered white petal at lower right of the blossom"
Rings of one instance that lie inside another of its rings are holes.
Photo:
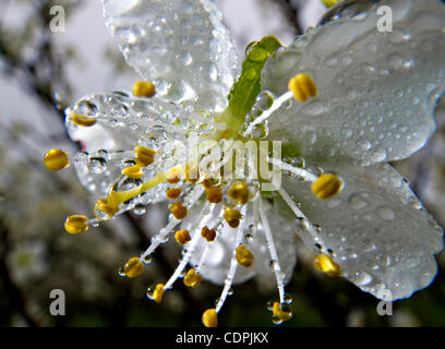
[[[436,275],[434,254],[443,249],[443,231],[409,184],[386,164],[335,170],[346,186],[330,200],[318,200],[308,185],[288,179],[284,188],[322,227],[321,239],[345,277],[378,298],[390,290],[394,300],[426,287]]]

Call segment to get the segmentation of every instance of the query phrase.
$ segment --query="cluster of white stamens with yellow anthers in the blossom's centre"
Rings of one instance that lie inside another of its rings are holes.
[[[149,98],[155,95],[155,86],[148,82],[137,82],[133,87],[133,94],[136,97]],[[277,98],[268,110],[265,110],[256,120],[248,124],[244,128],[242,136],[249,137],[255,125],[269,118],[285,101],[293,98],[299,103],[305,103],[310,98],[315,97],[316,86],[312,77],[308,74],[296,75],[289,81],[289,92]],[[71,121],[79,127],[91,127],[95,124],[97,120],[88,116],[72,113]],[[219,134],[220,139],[228,139],[228,134],[234,133],[232,130],[226,131],[227,132]],[[221,236],[222,227],[228,227],[237,237],[230,267],[227,273],[221,296],[218,299],[216,306],[205,311],[202,317],[205,326],[213,327],[217,325],[217,314],[231,290],[237,266],[240,265],[244,268],[252,268],[255,264],[254,255],[242,241],[245,228],[244,220],[246,207],[253,205],[254,233],[251,238],[254,239],[255,234],[260,233],[257,226],[261,222],[261,229],[266,237],[270,252],[270,258],[274,265],[273,269],[276,275],[279,291],[279,302],[270,303],[268,309],[273,312],[274,323],[278,324],[290,320],[292,316],[292,309],[290,305],[291,299],[284,292],[284,276],[279,265],[278,254],[275,249],[273,234],[267,221],[267,215],[265,214],[265,204],[261,197],[260,182],[250,179],[225,180],[225,178],[215,181],[213,180],[212,173],[205,171],[202,172],[199,166],[196,167],[191,164],[175,166],[167,171],[159,171],[148,180],[142,181],[141,179],[143,179],[146,169],[156,165],[157,151],[147,148],[143,145],[137,145],[132,154],[134,165],[125,167],[118,181],[122,180],[122,178],[129,178],[140,181],[139,185],[127,191],[117,191],[113,189],[115,185],[111,185],[107,196],[97,201],[94,207],[94,218],[87,218],[83,215],[70,216],[64,224],[65,230],[69,233],[85,232],[88,230],[89,225],[98,225],[99,222],[111,219],[116,215],[127,210],[127,208],[122,206],[123,203],[142,195],[160,183],[167,183],[168,188],[165,191],[165,196],[170,201],[168,205],[168,209],[171,214],[169,222],[159,231],[159,233],[153,237],[152,244],[144,253],[140,256],[131,257],[125,263],[123,269],[120,270],[120,275],[130,278],[141,275],[144,272],[145,265],[151,262],[151,255],[156,248],[161,243],[165,243],[168,240],[169,234],[175,232],[176,241],[184,246],[185,253],[170,279],[166,284],[158,284],[155,288],[148,289],[147,297],[159,303],[163,300],[165,292],[171,289],[175,281],[181,276],[183,277],[185,286],[195,288],[203,280],[201,270],[209,257],[212,244],[215,244],[215,241]],[[221,159],[220,164],[216,166],[216,169],[218,170],[229,160],[231,161],[232,159]],[[313,173],[304,168],[294,167],[274,157],[267,157],[267,161],[270,165],[280,166],[282,173],[289,173],[291,177],[298,176],[305,182],[312,183],[312,193],[320,200],[327,200],[337,195],[344,186],[341,179],[334,173]],[[44,163],[50,170],[60,170],[70,165],[69,155],[60,149],[49,151],[45,156]],[[191,190],[185,191],[185,189]],[[277,191],[293,212],[297,220],[304,220],[305,230],[314,239],[316,238],[315,241],[317,241],[317,244],[321,245],[322,250],[327,251],[316,226],[308,220],[299,206],[282,188]],[[219,209],[219,220],[216,222],[214,221],[213,224],[205,224],[205,219],[201,220],[201,218],[203,218],[201,217],[199,221],[192,222],[190,229],[176,229],[176,227],[188,216],[190,209],[202,200],[206,201],[203,212],[217,212]],[[202,221],[204,222],[200,226]],[[187,265],[190,263],[191,256],[200,240],[206,243],[201,261],[185,273]],[[315,257],[314,266],[317,270],[324,272],[330,276],[339,276],[341,274],[339,265],[325,253]]]

